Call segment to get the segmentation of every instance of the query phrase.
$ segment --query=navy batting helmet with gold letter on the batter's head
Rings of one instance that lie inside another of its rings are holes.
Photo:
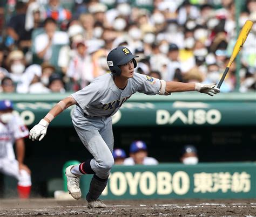
[[[113,75],[119,76],[121,74],[121,69],[118,66],[120,65],[126,64],[132,60],[134,68],[136,68],[137,62],[134,57],[138,56],[134,56],[127,47],[116,47],[107,55],[107,65]]]

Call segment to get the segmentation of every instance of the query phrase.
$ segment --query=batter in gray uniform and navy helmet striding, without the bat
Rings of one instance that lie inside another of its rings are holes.
[[[122,104],[136,92],[147,95],[170,95],[172,92],[196,90],[213,96],[219,93],[215,84],[181,83],[164,81],[134,73],[137,62],[127,47],[114,48],[107,55],[107,65],[111,73],[99,76],[89,86],[71,94],[58,102],[46,116],[30,130],[32,141],[41,141],[46,135],[49,123],[64,109],[76,104],[71,114],[73,125],[85,148],[92,154],[79,165],[66,168],[69,193],[75,199],[81,198],[80,176],[94,174],[86,195],[87,207],[104,208],[99,200],[107,184],[114,164],[112,118]]]

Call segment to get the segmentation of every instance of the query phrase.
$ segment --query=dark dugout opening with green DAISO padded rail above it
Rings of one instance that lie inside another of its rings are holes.
[[[1,94],[0,99],[13,100],[16,111],[31,129],[68,95]],[[71,111],[69,108],[53,120],[43,141],[26,139],[25,164],[32,171],[35,197],[49,196],[51,180],[62,185],[62,167],[67,160],[82,162],[90,156],[72,126]],[[142,139],[149,155],[161,163],[178,163],[179,151],[185,144],[198,148],[199,162],[255,161],[255,126],[255,93],[214,97],[199,93],[134,94],[113,116],[115,147],[128,153],[130,143]],[[6,181],[9,179],[2,178],[2,188]]]

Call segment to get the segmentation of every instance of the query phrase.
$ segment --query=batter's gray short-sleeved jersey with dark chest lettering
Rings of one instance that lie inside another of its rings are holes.
[[[72,94],[84,113],[90,116],[112,116],[129,97],[136,93],[156,95],[160,89],[160,80],[151,76],[134,73],[128,79],[124,90],[119,89],[113,81],[112,74],[99,76],[93,82]]]

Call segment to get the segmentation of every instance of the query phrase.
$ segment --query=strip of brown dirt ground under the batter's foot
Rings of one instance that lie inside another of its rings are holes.
[[[109,200],[107,208],[88,209],[85,200],[0,199],[0,215],[256,215],[256,199],[237,200]]]

